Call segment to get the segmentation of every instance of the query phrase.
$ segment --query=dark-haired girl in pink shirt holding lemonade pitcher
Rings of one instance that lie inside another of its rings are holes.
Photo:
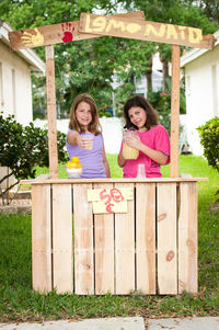
[[[130,98],[124,105],[125,128],[135,128],[126,134],[128,146],[139,150],[137,159],[125,159],[123,143],[118,166],[124,168],[124,178],[136,178],[139,163],[145,164],[147,178],[161,178],[160,166],[170,163],[170,138],[166,129],[158,124],[158,114],[141,95]]]

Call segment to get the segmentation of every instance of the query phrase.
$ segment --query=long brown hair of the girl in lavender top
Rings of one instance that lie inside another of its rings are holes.
[[[69,128],[76,129],[78,133],[84,133],[83,127],[79,124],[76,117],[77,107],[81,102],[88,103],[91,107],[92,121],[89,124],[88,130],[93,133],[94,135],[99,135],[102,132],[101,124],[99,121],[99,111],[95,101],[89,94],[80,94],[73,100],[73,103],[70,109]]]

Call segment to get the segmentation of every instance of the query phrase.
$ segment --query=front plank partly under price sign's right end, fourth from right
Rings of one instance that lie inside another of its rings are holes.
[[[115,184],[134,187],[134,184]],[[135,208],[134,201],[127,201],[128,212],[115,214],[115,274],[116,294],[125,295],[135,291]]]

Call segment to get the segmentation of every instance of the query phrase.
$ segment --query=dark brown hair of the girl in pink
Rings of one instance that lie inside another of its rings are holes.
[[[124,104],[124,118],[125,118],[125,128],[135,127],[138,129],[136,125],[130,122],[128,111],[132,106],[139,106],[145,110],[147,113],[146,128],[150,129],[152,126],[158,125],[159,117],[157,111],[152,107],[152,105],[143,98],[142,95],[134,95],[126,101]]]

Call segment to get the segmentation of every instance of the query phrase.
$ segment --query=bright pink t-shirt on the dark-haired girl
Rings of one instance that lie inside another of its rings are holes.
[[[162,125],[157,125],[147,132],[137,132],[141,143],[151,149],[162,151],[168,155],[170,162],[170,138],[168,130]],[[123,148],[123,144],[120,149]],[[145,163],[147,178],[161,178],[160,164],[154,162],[151,158],[139,151],[137,159],[126,160],[124,167],[124,178],[136,178],[139,163]]]

